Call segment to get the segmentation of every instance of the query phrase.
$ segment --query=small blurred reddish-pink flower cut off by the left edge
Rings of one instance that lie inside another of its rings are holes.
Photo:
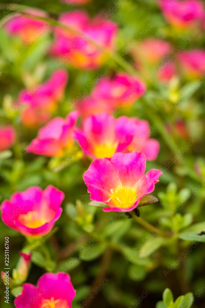
[[[0,126],[0,151],[12,147],[16,141],[16,132],[11,125]]]

